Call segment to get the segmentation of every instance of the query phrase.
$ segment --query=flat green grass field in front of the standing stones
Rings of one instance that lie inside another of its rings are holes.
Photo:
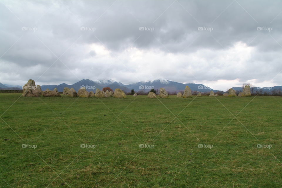
[[[281,97],[20,96],[0,93],[0,187],[282,185]]]

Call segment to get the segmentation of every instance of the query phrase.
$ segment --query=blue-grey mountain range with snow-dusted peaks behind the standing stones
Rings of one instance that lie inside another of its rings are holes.
[[[47,88],[49,90],[53,90],[54,88],[57,88],[59,92],[63,92],[63,89],[65,87],[68,88],[74,88],[76,91],[80,89],[81,87],[85,87],[88,92],[93,91],[95,93],[95,90],[98,88],[102,90],[104,87],[110,87],[111,89],[115,90],[116,88],[120,88],[124,90],[126,93],[130,92],[131,89],[134,89],[135,92],[138,92],[140,90],[143,90],[144,92],[150,91],[152,88],[154,89],[160,89],[160,88],[165,88],[169,92],[183,92],[186,86],[189,86],[192,91],[200,91],[200,92],[209,92],[209,91],[214,91],[214,92],[223,92],[220,90],[214,90],[211,89],[203,84],[196,84],[196,83],[179,83],[179,82],[174,82],[171,80],[167,79],[156,79],[153,81],[140,81],[132,84],[123,84],[121,82],[117,82],[115,80],[90,80],[90,79],[82,79],[74,84],[68,85],[66,83],[61,83],[59,85],[43,85],[41,86],[42,90],[46,90]],[[21,90],[21,86],[11,86],[11,85],[4,85],[0,83],[0,89],[12,89],[12,90]],[[242,90],[241,87],[233,87],[232,89],[234,90]],[[272,88],[263,88],[263,91],[271,91],[274,89],[281,89],[282,86],[274,86]],[[257,90],[257,88],[255,88]]]

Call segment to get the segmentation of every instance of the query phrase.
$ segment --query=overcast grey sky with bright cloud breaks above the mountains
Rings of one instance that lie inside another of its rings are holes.
[[[281,86],[281,1],[0,1],[0,82]]]

